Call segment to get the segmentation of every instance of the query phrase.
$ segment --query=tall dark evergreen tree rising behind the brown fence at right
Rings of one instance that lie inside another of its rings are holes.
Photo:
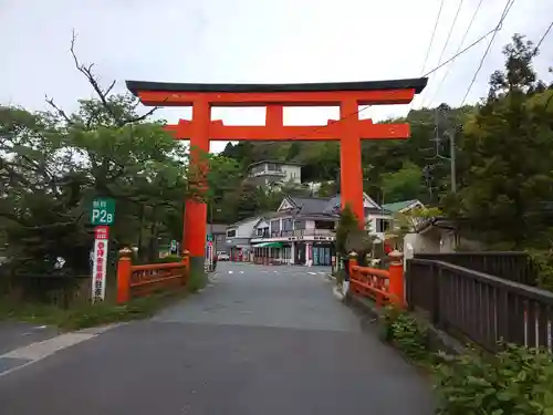
[[[549,232],[542,206],[553,200],[553,108],[543,104],[551,91],[535,92],[532,42],[515,34],[503,53],[504,71],[493,73],[488,100],[465,125],[463,186],[447,205],[489,243],[520,249]]]

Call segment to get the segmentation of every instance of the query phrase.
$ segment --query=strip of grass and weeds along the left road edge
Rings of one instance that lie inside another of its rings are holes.
[[[96,304],[82,303],[63,310],[55,305],[14,303],[0,299],[0,320],[18,320],[35,324],[58,326],[62,330],[80,330],[96,325],[153,317],[158,310],[187,295],[189,288],[156,292],[131,300],[126,304],[104,301]]]

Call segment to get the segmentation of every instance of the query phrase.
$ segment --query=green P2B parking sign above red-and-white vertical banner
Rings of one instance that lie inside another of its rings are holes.
[[[92,252],[92,302],[103,301],[105,298],[109,225],[113,225],[114,220],[115,200],[94,199],[91,209],[91,225],[95,226]]]

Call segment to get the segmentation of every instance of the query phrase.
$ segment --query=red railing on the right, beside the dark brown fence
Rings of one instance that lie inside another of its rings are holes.
[[[404,294],[404,264],[401,253],[393,251],[389,269],[383,270],[369,267],[359,267],[357,258],[349,259],[349,291],[353,294],[368,297],[377,305],[405,305]]]

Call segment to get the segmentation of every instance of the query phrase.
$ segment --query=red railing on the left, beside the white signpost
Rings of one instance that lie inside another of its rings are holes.
[[[117,264],[117,303],[153,291],[185,286],[189,276],[189,258],[185,252],[180,262],[133,266],[131,250],[119,251]]]

